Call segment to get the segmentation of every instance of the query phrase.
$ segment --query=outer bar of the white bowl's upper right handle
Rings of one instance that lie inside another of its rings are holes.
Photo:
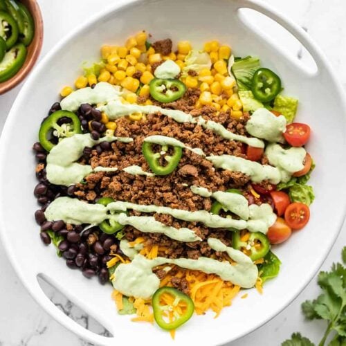
[[[280,13],[277,10],[271,8],[266,3],[260,0],[237,0],[238,6],[236,10],[241,8],[250,8],[251,10],[256,10],[257,12],[266,15],[267,17],[273,19],[282,27],[284,27],[291,35],[293,35],[304,48],[309,51],[313,60],[315,60],[317,71],[313,73],[311,77],[316,77],[320,72],[320,66],[327,63],[327,58],[318,45],[313,42],[313,39],[303,30],[298,24],[295,24],[294,21],[286,17],[284,14]]]

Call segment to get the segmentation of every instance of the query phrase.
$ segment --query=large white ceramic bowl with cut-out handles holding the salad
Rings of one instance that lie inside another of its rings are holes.
[[[308,49],[317,65],[314,73],[305,71],[295,60],[271,42],[270,35],[256,33],[239,18],[239,8],[253,8],[289,30]],[[30,148],[37,130],[61,86],[72,82],[83,60],[98,57],[100,44],[120,44],[139,30],[154,34],[154,39],[190,39],[201,45],[219,39],[234,48],[236,55],[258,55],[264,66],[278,71],[285,93],[300,100],[298,120],[313,131],[309,152],[316,161],[311,184],[316,201],[311,220],[289,242],[275,248],[282,260],[277,279],[268,282],[264,295],[251,290],[246,300],[236,299],[219,318],[212,313],[194,316],[181,327],[173,342],[169,334],[145,323],[130,322],[118,316],[111,300],[111,287],[87,280],[81,273],[66,268],[39,240],[39,227],[33,213],[35,160]],[[295,298],[325,259],[343,224],[345,211],[346,161],[345,100],[343,90],[320,50],[304,31],[289,19],[262,3],[251,0],[138,0],[117,3],[96,16],[57,44],[19,93],[10,111],[0,144],[1,236],[8,257],[35,300],[62,325],[95,344],[116,345],[220,345],[244,336],[273,318]],[[42,275],[69,299],[90,313],[113,334],[113,338],[86,331],[46,297],[37,283]]]

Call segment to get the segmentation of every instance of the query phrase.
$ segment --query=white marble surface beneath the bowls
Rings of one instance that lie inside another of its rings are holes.
[[[116,0],[39,0],[45,25],[44,47],[42,55],[63,35],[86,20],[100,8],[109,6]],[[346,2],[345,0],[266,0],[281,12],[286,13],[318,42],[336,69],[339,78],[346,87]],[[291,54],[309,63],[309,57],[302,51],[294,39],[273,24],[262,18],[254,18],[263,28],[271,30],[273,37],[284,42]],[[0,130],[11,104],[21,86],[0,96]],[[1,197],[3,198],[3,197]],[[328,269],[332,262],[340,260],[340,250],[346,244],[346,232],[343,228],[334,248],[322,268]],[[71,302],[47,288],[48,295],[75,320],[91,330],[104,333],[91,318],[88,318]],[[229,345],[277,346],[294,331],[302,331],[311,340],[320,340],[321,324],[305,322],[300,313],[300,304],[318,294],[314,279],[309,286],[271,322],[253,333]],[[82,346],[91,345],[64,329],[48,316],[28,295],[24,286],[13,272],[10,262],[3,253],[0,244],[0,346]]]

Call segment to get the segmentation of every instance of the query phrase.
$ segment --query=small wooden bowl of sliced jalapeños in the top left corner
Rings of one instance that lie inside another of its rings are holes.
[[[41,10],[39,10],[39,5],[36,0],[21,0],[21,2],[28,8],[33,19],[35,21],[35,36],[33,42],[28,46],[28,54],[26,55],[26,61],[21,69],[14,75],[10,80],[0,83],[0,95],[6,93],[10,89],[13,89],[17,86],[26,76],[30,73],[31,69],[35,65],[41,52],[42,42],[43,42],[43,21]]]

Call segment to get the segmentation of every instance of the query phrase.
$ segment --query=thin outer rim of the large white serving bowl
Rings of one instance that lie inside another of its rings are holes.
[[[41,66],[46,63],[46,61],[50,60],[53,55],[55,55],[56,51],[58,51],[64,44],[67,42],[72,41],[75,39],[76,36],[80,35],[84,30],[86,30],[89,26],[95,24],[95,22],[101,20],[103,17],[109,15],[110,12],[116,12],[118,10],[123,10],[125,8],[131,7],[131,6],[136,6],[137,3],[144,3],[147,1],[161,1],[161,0],[120,0],[116,4],[112,4],[111,6],[107,6],[104,10],[101,12],[98,12],[97,14],[93,15],[90,17],[90,19],[86,19],[84,23],[82,23],[80,26],[75,28],[75,30],[71,31],[69,35],[66,35],[66,37],[63,37],[60,39],[60,42],[58,42],[54,48],[51,49],[44,57],[43,59],[39,62],[37,65],[34,73],[30,75],[28,80],[26,81],[26,84],[24,84],[23,88],[19,92],[19,95],[17,96],[14,104],[12,105],[12,109],[10,110],[10,113],[8,114],[8,118],[6,120],[6,123],[3,127],[3,132],[0,137],[0,166],[1,163],[4,163],[4,154],[5,154],[5,143],[8,142],[8,138],[10,137],[10,134],[6,131],[6,129],[10,128],[12,125],[12,122],[15,121],[15,118],[13,117],[14,114],[17,111],[17,107],[19,107],[19,104],[21,103],[21,98],[24,98],[24,95],[26,94],[27,90],[30,87],[30,84],[35,80],[35,75],[37,72],[41,69]],[[219,0],[219,1],[227,1],[227,0]],[[317,46],[317,44],[314,42],[314,40],[300,27],[298,24],[295,24],[295,22],[289,18],[286,17],[286,15],[282,14],[280,11],[277,11],[273,9],[271,6],[269,6],[267,3],[264,3],[261,0],[235,0],[237,3],[240,3],[241,6],[239,8],[253,8],[255,10],[260,10],[259,12],[262,12],[261,10],[266,11],[266,15],[268,17],[271,17],[271,19],[274,19],[277,21],[278,24],[281,24],[286,28],[287,30],[290,31],[291,34],[297,33],[299,34],[298,36],[300,37],[300,41],[304,41],[304,46],[309,46],[309,52],[311,53],[311,50],[313,51],[313,58],[316,60],[316,63],[322,64],[323,68],[325,71],[327,71],[329,77],[331,78],[331,81],[334,83],[336,92],[338,93],[338,98],[340,99],[340,106],[342,107],[343,111],[346,113],[346,96],[345,96],[345,91],[343,89],[342,84],[338,80],[338,77],[336,75],[336,72],[331,67],[331,64],[327,60],[327,57],[325,57],[325,54],[322,52],[322,50]],[[263,12],[262,12],[263,13]],[[292,31],[293,30],[293,31]],[[294,35],[294,34],[293,34]],[[0,170],[0,183],[3,181],[3,172]],[[344,186],[345,188],[345,186]],[[3,200],[0,199],[0,210],[4,210],[5,208],[5,203]],[[334,234],[334,237],[332,239],[332,242],[330,245],[325,248],[325,252],[323,253],[323,256],[320,256],[320,260],[318,260],[318,264],[316,264],[316,267],[313,268],[309,272],[309,275],[307,275],[307,279],[302,283],[297,286],[297,289],[291,296],[289,300],[286,300],[286,302],[280,306],[280,309],[277,309],[274,313],[271,314],[271,316],[268,316],[264,320],[261,320],[260,322],[257,323],[257,325],[254,325],[251,329],[249,329],[247,332],[244,332],[242,334],[239,334],[237,338],[241,338],[242,336],[245,336],[252,331],[255,331],[256,329],[260,328],[262,325],[264,325],[266,322],[270,321],[273,319],[275,316],[277,316],[278,313],[286,309],[286,307],[291,304],[295,298],[302,292],[302,290],[311,282],[313,277],[316,275],[320,267],[322,266],[323,262],[325,262],[325,259],[329,252],[331,251],[332,246],[334,245],[336,238],[338,237],[340,230],[343,226],[343,222],[346,217],[346,199],[343,201],[343,206],[342,206],[343,212],[338,215],[338,219],[336,221],[336,224],[338,225],[338,231]],[[1,212],[0,212],[1,215]],[[84,338],[86,340],[89,340],[94,343],[102,343],[102,345],[111,345],[110,343],[107,343],[108,340],[113,340],[113,338],[105,338],[102,336],[98,336],[98,334],[93,334],[90,333],[88,330],[82,328],[76,327],[75,324],[73,324],[73,321],[70,321],[68,323],[68,319],[61,318],[61,316],[58,316],[55,309],[51,308],[48,306],[48,304],[45,304],[41,299],[42,295],[39,295],[35,288],[33,286],[30,286],[24,279],[24,273],[21,271],[21,268],[17,264],[15,260],[15,255],[10,251],[10,243],[7,240],[6,237],[6,230],[5,230],[5,225],[4,225],[4,220],[0,217],[0,239],[3,242],[3,246],[6,251],[6,255],[8,256],[13,268],[15,268],[15,271],[17,275],[21,278],[21,282],[26,286],[26,289],[30,293],[30,295],[35,299],[35,301],[44,308],[44,310],[49,313],[55,320],[60,322],[64,327],[69,329],[70,331],[73,331],[75,334],[78,334],[81,338]],[[83,331],[83,332],[82,332]],[[232,339],[235,340],[235,339]],[[228,343],[230,339],[227,338],[219,338],[218,340],[221,343]]]

